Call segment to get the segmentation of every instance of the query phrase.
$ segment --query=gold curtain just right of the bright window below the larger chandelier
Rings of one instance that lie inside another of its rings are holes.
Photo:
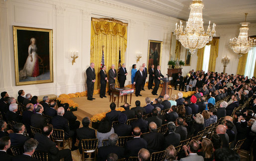
[[[219,37],[214,37],[212,41],[206,44],[211,45],[208,70],[212,72],[215,72],[216,59],[219,52],[219,39]]]

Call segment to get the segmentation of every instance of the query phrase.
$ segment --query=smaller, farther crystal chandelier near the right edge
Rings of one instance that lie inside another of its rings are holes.
[[[246,17],[248,13],[245,13]],[[237,54],[239,54],[239,58],[242,56],[242,54],[246,54],[249,52],[249,50],[256,46],[256,40],[248,38],[248,25],[250,22],[241,22],[240,27],[240,33],[238,35],[238,38],[232,38],[230,39],[229,46],[230,48]]]

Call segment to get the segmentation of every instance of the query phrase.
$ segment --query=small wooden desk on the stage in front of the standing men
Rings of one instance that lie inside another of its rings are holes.
[[[131,104],[131,95],[133,92],[134,92],[134,89],[128,88],[128,87],[111,89],[112,102],[115,102],[114,94],[118,95],[118,107],[119,107],[119,97],[124,95],[125,96],[124,102],[127,103],[127,95],[130,94],[130,104]]]

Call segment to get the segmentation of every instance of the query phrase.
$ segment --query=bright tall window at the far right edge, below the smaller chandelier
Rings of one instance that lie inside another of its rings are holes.
[[[256,47],[252,48],[248,52],[248,56],[247,56],[245,76],[248,76],[249,79],[251,79],[254,76],[255,62],[256,62]]]

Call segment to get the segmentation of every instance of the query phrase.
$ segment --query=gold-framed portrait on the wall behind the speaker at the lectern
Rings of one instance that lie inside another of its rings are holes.
[[[147,69],[151,68],[152,64],[154,64],[155,69],[157,65],[161,65],[162,48],[162,41],[148,40]]]

